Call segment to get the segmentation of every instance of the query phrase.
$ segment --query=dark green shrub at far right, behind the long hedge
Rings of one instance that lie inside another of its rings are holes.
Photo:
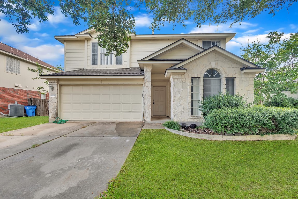
[[[294,107],[298,108],[298,99],[288,97],[284,93],[278,93],[272,95],[270,100],[265,101],[266,107]]]

